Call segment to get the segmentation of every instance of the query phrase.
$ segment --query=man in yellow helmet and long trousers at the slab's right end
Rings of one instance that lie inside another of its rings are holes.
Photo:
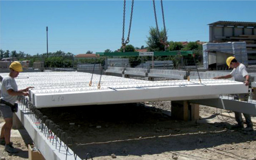
[[[226,60],[226,63],[228,65],[228,68],[234,68],[232,72],[226,76],[219,76],[219,77],[214,77],[214,79],[228,79],[231,77],[234,77],[235,81],[238,82],[244,82],[246,86],[249,85],[249,74],[246,71],[246,67],[244,64],[238,62],[235,57],[231,56],[228,57]],[[242,100],[242,101],[248,101],[249,94],[248,93],[243,93],[243,94],[235,94],[234,99],[235,100]],[[240,112],[235,112],[235,118],[236,122],[238,124],[233,125],[232,128],[243,128],[244,131],[253,131],[253,124],[251,120],[251,116],[248,114],[244,114],[245,121],[247,127],[244,128],[244,121],[242,118],[242,113]]]

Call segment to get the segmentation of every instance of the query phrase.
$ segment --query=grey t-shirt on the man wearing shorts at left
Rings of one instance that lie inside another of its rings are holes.
[[[9,90],[9,89],[12,89],[13,91],[17,92],[18,86],[17,86],[14,78],[7,76],[7,77],[4,77],[4,79],[2,81],[1,99],[14,105],[18,96],[12,96],[12,95],[8,94],[7,90]]]

